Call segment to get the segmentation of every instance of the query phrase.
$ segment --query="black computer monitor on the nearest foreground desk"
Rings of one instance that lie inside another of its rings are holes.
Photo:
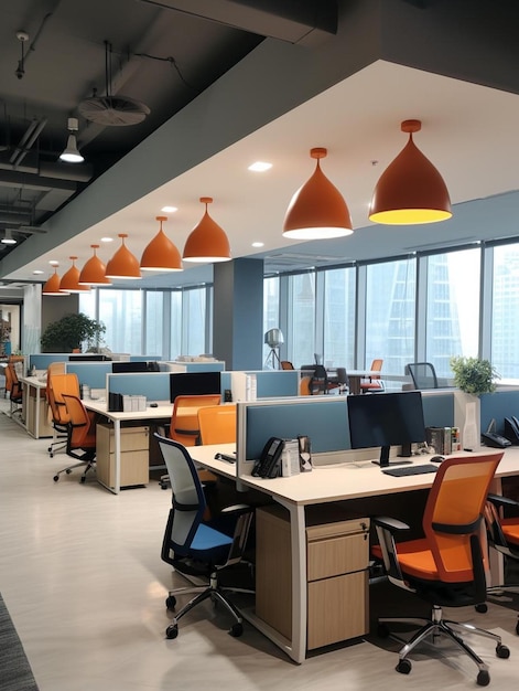
[[[391,446],[410,456],[411,444],[425,440],[420,391],[359,394],[347,402],[352,448],[379,446],[380,459],[374,463],[381,467],[389,466]]]

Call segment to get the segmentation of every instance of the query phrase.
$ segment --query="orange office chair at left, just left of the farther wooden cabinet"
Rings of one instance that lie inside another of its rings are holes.
[[[84,483],[86,475],[96,465],[96,418],[97,414],[87,411],[78,396],[64,393],[63,398],[68,412],[66,453],[78,463],[66,466],[54,476],[57,482],[62,472],[69,475],[73,468],[86,466],[79,482]]]

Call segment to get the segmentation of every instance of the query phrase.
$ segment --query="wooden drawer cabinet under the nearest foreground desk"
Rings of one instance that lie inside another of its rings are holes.
[[[256,520],[256,614],[291,640],[289,513],[281,507],[264,507],[257,510]],[[369,519],[337,520],[337,512],[307,508],[307,650],[369,630],[368,531]]]

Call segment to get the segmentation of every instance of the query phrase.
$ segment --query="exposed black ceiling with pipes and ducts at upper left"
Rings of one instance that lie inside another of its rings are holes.
[[[334,31],[323,0],[0,0],[0,235],[23,242],[266,35],[300,43]],[[108,94],[107,94],[108,91]],[[105,96],[133,125],[99,124]],[[113,102],[112,102],[113,104]],[[130,110],[133,113],[133,108]],[[127,110],[128,114],[128,110]],[[58,160],[78,119],[84,163]],[[94,119],[93,119],[94,118]],[[0,244],[1,256],[11,245]]]

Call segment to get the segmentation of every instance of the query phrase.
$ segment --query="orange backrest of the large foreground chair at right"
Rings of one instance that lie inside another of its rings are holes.
[[[487,561],[487,550],[482,548],[485,502],[501,458],[502,451],[496,451],[444,460],[437,469],[423,513],[423,531],[441,581],[474,581],[483,588],[480,602],[485,600],[485,572],[482,570]]]

